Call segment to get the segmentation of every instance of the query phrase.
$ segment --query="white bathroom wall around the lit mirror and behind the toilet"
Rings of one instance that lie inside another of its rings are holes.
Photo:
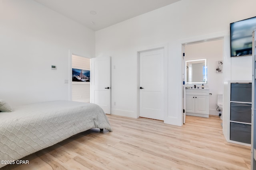
[[[216,103],[218,94],[223,94],[223,73],[216,73],[216,62],[223,60],[223,39],[185,45],[185,53],[186,61],[206,59],[208,74],[207,83],[204,85],[205,88],[209,88],[209,92],[212,94],[209,96],[209,113],[210,115],[218,115]],[[199,84],[200,87],[201,85]]]

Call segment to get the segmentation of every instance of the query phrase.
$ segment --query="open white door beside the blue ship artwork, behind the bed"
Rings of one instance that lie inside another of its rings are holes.
[[[110,57],[96,57],[91,60],[92,93],[91,103],[98,104],[106,114],[111,109]]]

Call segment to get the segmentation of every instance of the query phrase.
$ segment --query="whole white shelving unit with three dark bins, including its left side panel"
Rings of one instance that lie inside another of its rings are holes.
[[[234,87],[238,85],[238,87]],[[246,87],[241,87],[246,86]],[[252,81],[236,80],[224,84],[223,133],[228,142],[251,146]],[[236,89],[237,88],[237,89]],[[241,90],[242,89],[242,90]],[[245,94],[244,90],[248,90]],[[244,100],[244,97],[247,99]]]

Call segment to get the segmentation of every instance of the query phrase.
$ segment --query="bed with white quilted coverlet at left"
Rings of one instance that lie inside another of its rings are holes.
[[[0,112],[0,160],[18,160],[92,128],[112,131],[96,104],[51,101]]]

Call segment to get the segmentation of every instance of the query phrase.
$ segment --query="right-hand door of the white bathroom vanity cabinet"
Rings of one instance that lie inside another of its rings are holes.
[[[195,113],[209,114],[209,96],[195,96]]]

